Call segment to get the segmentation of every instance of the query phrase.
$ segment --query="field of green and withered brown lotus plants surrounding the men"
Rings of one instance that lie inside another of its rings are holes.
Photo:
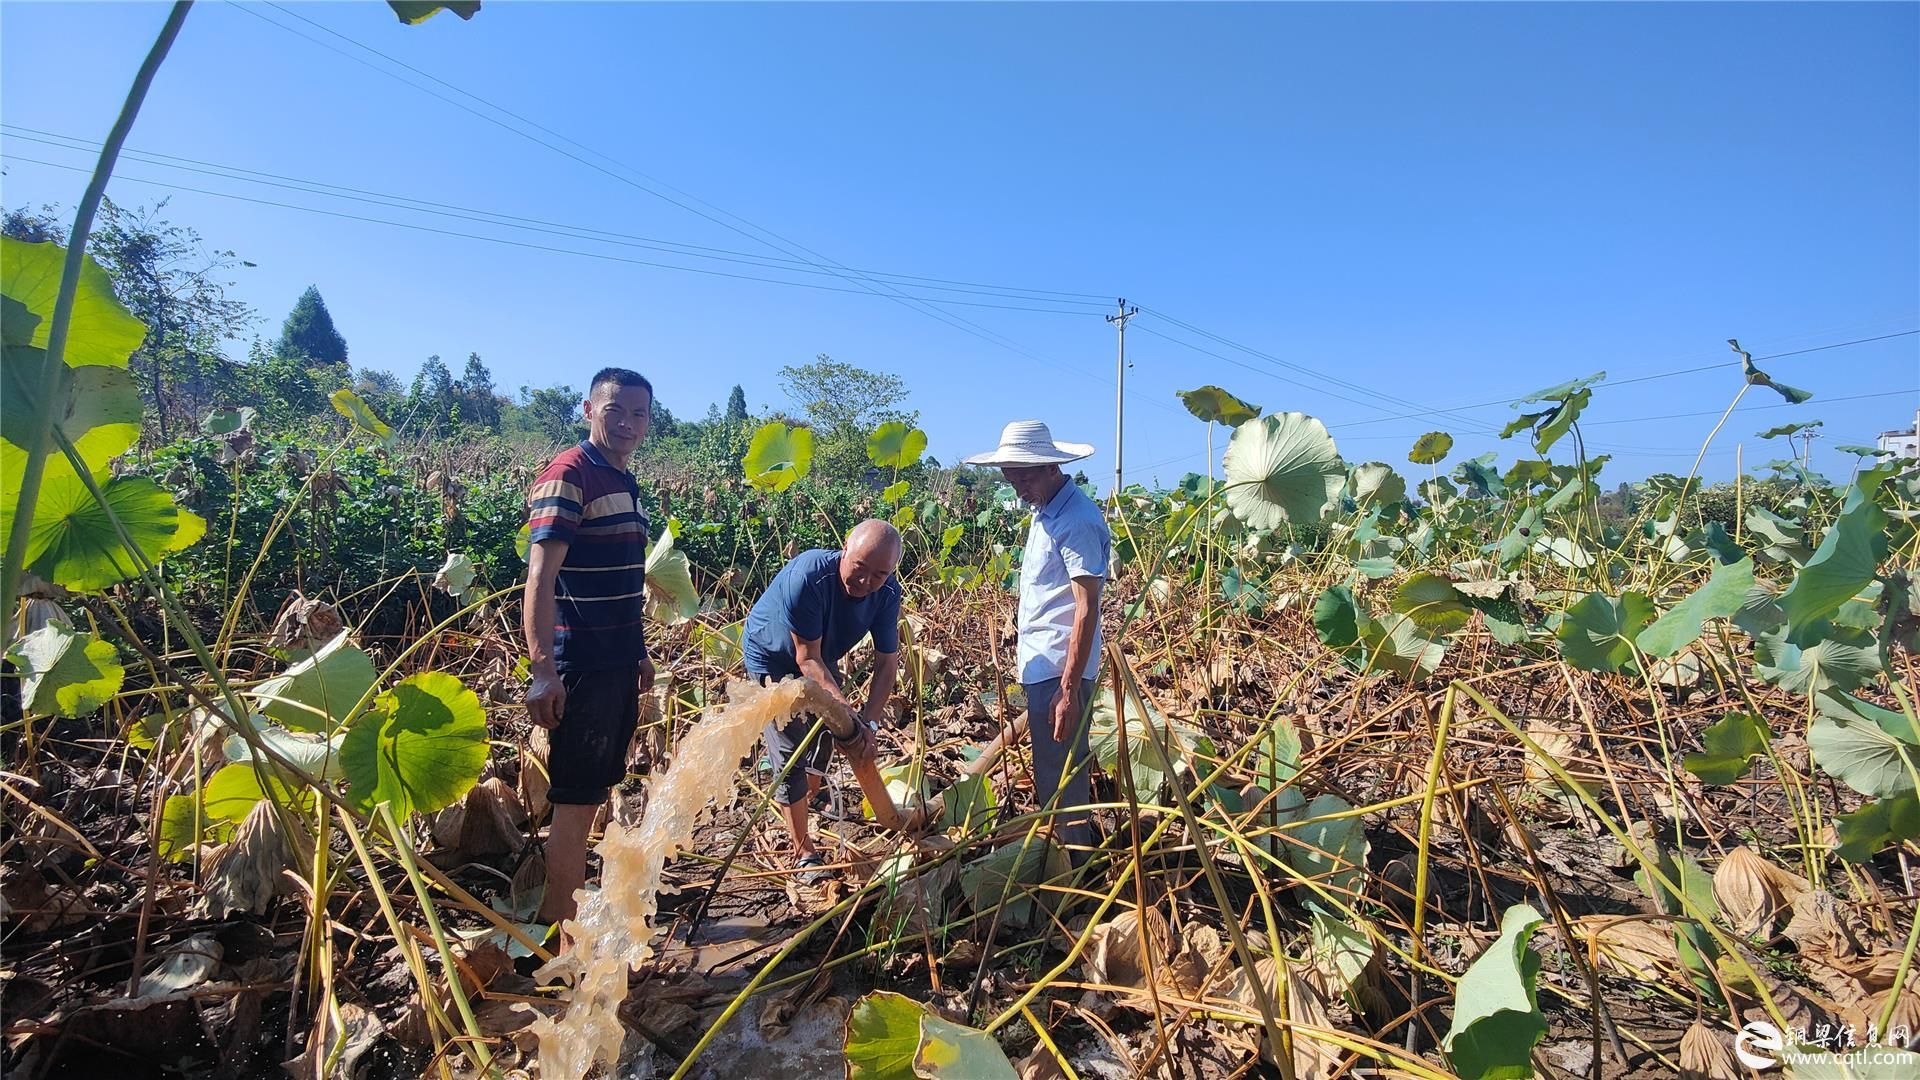
[[[56,244],[0,256],[10,1076],[1920,1061],[1912,459],[1603,488],[1580,430],[1603,375],[1515,402],[1511,454],[1471,459],[1434,430],[1350,461],[1311,415],[1194,388],[1208,475],[1108,500],[1083,861],[1020,738],[1010,488],[902,423],[854,490],[781,421],[724,471],[641,459],[660,678],[595,832],[591,936],[547,965],[515,536],[540,459],[403,438],[351,390],[319,442],[232,402],[140,444],[146,327],[113,281]],[[1743,398],[1814,398],[1732,348],[1701,459]],[[925,821],[881,828],[835,778],[839,872],[803,884],[749,738],[795,701],[743,682],[741,621],[862,517],[906,540],[877,738]],[[1872,1053],[1820,1053],[1847,1049]]]

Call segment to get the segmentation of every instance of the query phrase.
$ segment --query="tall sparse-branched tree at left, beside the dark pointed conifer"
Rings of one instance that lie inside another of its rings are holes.
[[[159,440],[175,421],[194,425],[215,404],[232,402],[240,373],[221,350],[255,323],[253,309],[230,300],[223,281],[242,265],[232,252],[207,250],[200,233],[171,225],[152,208],[123,209],[100,202],[100,225],[88,254],[113,279],[113,294],[146,323],[146,340],[129,367],[152,409]]]

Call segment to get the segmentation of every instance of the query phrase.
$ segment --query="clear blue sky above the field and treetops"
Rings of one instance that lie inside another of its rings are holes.
[[[163,17],[0,8],[6,206],[71,208],[84,175],[25,160],[88,156],[25,129],[102,138]],[[1425,430],[1453,432],[1453,459],[1530,455],[1488,434],[1503,402],[1599,369],[1586,438],[1624,480],[1686,473],[1738,390],[1738,336],[1755,356],[1818,348],[1763,361],[1816,398],[1747,394],[1703,473],[1730,477],[1736,442],[1749,469],[1778,457],[1755,432],[1822,419],[1814,463],[1843,477],[1830,448],[1908,427],[1920,398],[1920,334],[1903,334],[1920,329],[1916,58],[1912,4],[493,2],[407,29],[376,4],[204,2],[131,150],[747,261],[134,156],[109,194],[152,202],[169,190],[134,181],[165,181],[845,290],[171,192],[173,221],[257,263],[234,294],[263,334],[319,284],[353,361],[403,377],[428,354],[457,369],[480,352],[503,388],[626,363],[699,417],[733,382],[756,411],[787,405],[776,371],[824,352],[900,375],[943,461],[1033,415],[1100,446],[1104,488],[1102,315],[1125,296],[1144,307],[1129,480],[1206,465],[1173,396],[1204,382],[1417,473]],[[1020,294],[904,288],[1004,306],[935,317],[818,273],[828,259]],[[1859,338],[1882,340],[1820,348]]]

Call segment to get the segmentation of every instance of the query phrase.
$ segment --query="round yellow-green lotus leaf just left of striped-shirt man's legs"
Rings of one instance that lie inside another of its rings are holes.
[[[442,671],[403,678],[374,698],[340,748],[353,805],[384,801],[401,817],[453,805],[480,780],[486,755],[480,698]]]

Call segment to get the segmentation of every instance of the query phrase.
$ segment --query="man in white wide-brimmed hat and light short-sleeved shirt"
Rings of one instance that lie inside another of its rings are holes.
[[[1106,517],[1060,469],[1089,454],[1092,446],[1054,442],[1041,421],[1014,421],[996,450],[966,459],[1000,469],[1014,494],[1033,507],[1020,561],[1018,671],[1027,692],[1033,788],[1041,807],[1060,811],[1091,801],[1083,717],[1100,665],[1100,590],[1112,567]],[[1068,815],[1054,836],[1068,846],[1091,844],[1085,815],[1085,809]]]

